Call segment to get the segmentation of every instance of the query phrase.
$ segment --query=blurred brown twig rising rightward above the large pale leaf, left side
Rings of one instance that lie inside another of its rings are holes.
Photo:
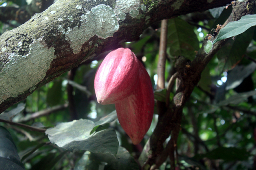
[[[69,106],[69,104],[66,103],[64,105],[54,106],[50,109],[45,109],[45,110],[41,110],[39,112],[35,112],[33,114],[27,114],[24,118],[20,119],[18,122],[27,122],[27,121],[36,119],[36,118],[44,116],[44,115],[49,115],[52,112],[57,112],[59,110],[66,109],[68,106]]]

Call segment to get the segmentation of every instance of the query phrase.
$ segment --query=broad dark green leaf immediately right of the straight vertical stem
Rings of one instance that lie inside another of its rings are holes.
[[[199,42],[193,26],[178,17],[169,19],[167,38],[167,47],[172,56],[181,55],[190,60],[195,58],[194,51],[199,49]]]

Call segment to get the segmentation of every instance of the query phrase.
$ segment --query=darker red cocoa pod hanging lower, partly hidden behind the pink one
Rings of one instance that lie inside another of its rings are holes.
[[[118,121],[133,144],[148,132],[154,113],[154,93],[150,77],[139,61],[138,86],[128,98],[115,103]]]

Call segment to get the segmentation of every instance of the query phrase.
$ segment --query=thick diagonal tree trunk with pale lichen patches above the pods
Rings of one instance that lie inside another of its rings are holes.
[[[58,0],[0,36],[0,113],[98,54],[139,39],[154,22],[231,0]]]

